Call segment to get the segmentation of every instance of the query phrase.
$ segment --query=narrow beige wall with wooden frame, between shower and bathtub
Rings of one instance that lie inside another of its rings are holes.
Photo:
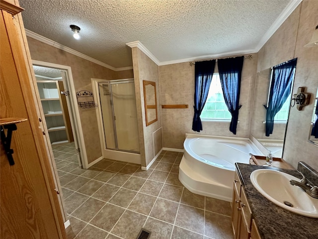
[[[140,155],[142,166],[146,167],[156,156],[154,153],[153,133],[161,127],[159,67],[137,47],[132,48],[132,55],[140,140]],[[157,88],[158,120],[148,126],[146,126],[143,81],[156,82]],[[156,139],[158,140],[159,137],[157,136]],[[158,145],[158,142],[156,145]]]

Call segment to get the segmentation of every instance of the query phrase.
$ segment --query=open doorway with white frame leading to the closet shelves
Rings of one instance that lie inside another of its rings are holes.
[[[77,103],[72,98],[75,90],[72,90],[74,83],[71,67],[34,60],[32,63],[41,101],[39,105],[42,106],[43,121],[47,126],[54,157],[64,160],[74,154],[76,156],[72,161],[83,168],[87,167]],[[62,152],[68,154],[60,156]]]

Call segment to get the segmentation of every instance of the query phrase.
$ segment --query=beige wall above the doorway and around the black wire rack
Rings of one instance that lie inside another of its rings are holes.
[[[91,78],[116,79],[117,73],[31,37],[27,37],[32,60],[70,66],[75,90],[92,91]],[[95,109],[79,108],[88,163],[102,156]],[[97,135],[97,136],[96,136]]]

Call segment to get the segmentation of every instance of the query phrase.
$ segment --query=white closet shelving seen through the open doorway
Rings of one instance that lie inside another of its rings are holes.
[[[63,81],[37,80],[51,143],[73,142]]]

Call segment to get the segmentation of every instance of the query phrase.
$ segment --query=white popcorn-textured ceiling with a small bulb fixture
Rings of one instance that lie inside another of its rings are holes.
[[[255,49],[291,0],[19,0],[25,28],[115,68]],[[70,24],[78,25],[80,39]]]

